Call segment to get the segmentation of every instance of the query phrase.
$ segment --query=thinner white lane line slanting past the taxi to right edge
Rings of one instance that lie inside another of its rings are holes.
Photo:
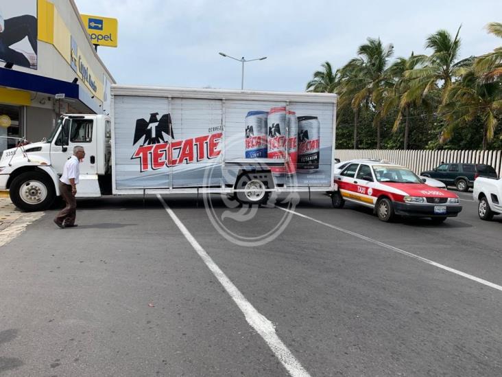
[[[452,269],[451,267],[445,266],[444,264],[440,264],[438,262],[434,262],[433,260],[429,260],[427,258],[420,257],[419,255],[416,255],[416,254],[413,254],[413,253],[409,253],[409,251],[404,251],[403,249],[399,249],[398,247],[391,246],[390,244],[385,244],[383,242],[374,240],[373,238],[369,238],[369,237],[363,236],[362,234],[355,233],[354,231],[349,231],[347,229],[336,227],[335,225],[328,224],[327,222],[322,222],[322,221],[317,220],[317,219],[315,219],[313,217],[310,217],[310,216],[307,216],[307,215],[304,215],[304,214],[300,214],[299,212],[291,211],[291,209],[286,209],[286,208],[283,208],[283,207],[277,207],[277,208],[282,209],[283,211],[286,211],[286,212],[291,212],[292,214],[296,214],[296,216],[300,216],[302,218],[307,218],[309,220],[312,220],[313,222],[317,222],[318,224],[321,224],[321,225],[324,225],[326,227],[335,229],[337,231],[341,231],[342,233],[350,234],[350,236],[361,238],[361,240],[372,242],[373,244],[377,244],[377,245],[379,245],[381,247],[384,247],[385,249],[390,249],[392,251],[396,251],[396,253],[400,253],[400,254],[406,255],[406,256],[408,256],[410,258],[414,258],[416,260],[420,260],[420,262],[425,262],[427,264],[431,264],[433,266],[438,267],[438,269],[449,271],[451,273],[454,273],[455,275],[466,277],[467,279],[473,280],[474,282],[477,282],[479,284],[483,284],[483,285],[489,286],[490,288],[494,288],[494,289],[502,291],[502,286],[499,286],[499,284],[494,284],[492,282],[488,282],[488,280],[481,279],[479,277],[476,277],[474,275],[470,275],[468,273],[464,273],[464,272],[459,271],[459,270]]]

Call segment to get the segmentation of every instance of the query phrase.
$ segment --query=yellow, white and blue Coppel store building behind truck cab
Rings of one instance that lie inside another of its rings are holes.
[[[75,1],[2,2],[0,152],[47,137],[60,114],[109,113],[110,84]]]

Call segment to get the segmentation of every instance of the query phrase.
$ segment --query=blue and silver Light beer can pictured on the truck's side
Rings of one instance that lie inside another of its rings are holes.
[[[246,159],[267,157],[267,115],[266,111],[249,111],[246,115]]]

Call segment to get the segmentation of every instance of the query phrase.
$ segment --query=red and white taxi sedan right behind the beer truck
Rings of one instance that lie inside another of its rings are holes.
[[[462,211],[453,192],[426,185],[408,168],[381,161],[350,163],[335,174],[335,186],[333,207],[342,208],[345,201],[365,205],[382,221],[399,215],[443,222]]]

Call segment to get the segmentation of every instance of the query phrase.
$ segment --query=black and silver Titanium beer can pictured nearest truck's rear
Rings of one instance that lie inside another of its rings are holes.
[[[319,169],[320,123],[318,117],[298,117],[298,172]]]

